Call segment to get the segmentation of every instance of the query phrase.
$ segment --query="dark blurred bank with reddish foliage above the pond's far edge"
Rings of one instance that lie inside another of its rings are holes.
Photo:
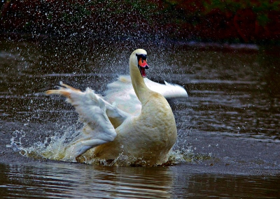
[[[278,43],[279,0],[0,1],[1,36]]]

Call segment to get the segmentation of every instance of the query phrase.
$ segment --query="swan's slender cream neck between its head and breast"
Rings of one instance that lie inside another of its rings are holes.
[[[139,98],[139,101],[141,101],[141,103],[143,104],[150,89],[148,89],[148,87],[146,86],[144,78],[142,78],[138,66],[135,66],[132,61],[130,62],[130,78],[132,79],[132,86],[134,88],[134,91]]]

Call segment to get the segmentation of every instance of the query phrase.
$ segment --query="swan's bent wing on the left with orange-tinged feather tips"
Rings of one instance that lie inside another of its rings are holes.
[[[106,115],[106,106],[111,105],[98,94],[94,94],[92,89],[87,88],[85,92],[82,92],[62,82],[60,84],[64,87],[46,91],[46,94],[66,96],[66,101],[76,108],[80,120],[85,123],[83,133],[78,140],[71,143],[71,146],[66,149],[65,158],[77,157],[92,147],[113,141],[117,135],[116,130]],[[114,113],[116,114],[116,112]]]

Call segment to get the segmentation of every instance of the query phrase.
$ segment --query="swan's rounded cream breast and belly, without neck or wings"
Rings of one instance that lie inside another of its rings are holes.
[[[118,135],[113,142],[94,149],[95,157],[115,159],[123,154],[145,161],[146,166],[158,165],[168,160],[177,137],[172,109],[167,100],[154,91],[148,91],[141,114],[125,121],[116,131]]]

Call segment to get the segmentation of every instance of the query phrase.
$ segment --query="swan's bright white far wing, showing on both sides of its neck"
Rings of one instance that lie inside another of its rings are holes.
[[[165,98],[188,97],[187,91],[177,84],[167,82],[159,84],[148,78],[144,78],[144,82],[149,89],[162,94]],[[134,92],[129,75],[122,75],[116,82],[108,84],[104,94],[106,101],[116,103],[116,107],[120,110],[129,112],[132,115],[137,115],[141,112],[141,103]]]

